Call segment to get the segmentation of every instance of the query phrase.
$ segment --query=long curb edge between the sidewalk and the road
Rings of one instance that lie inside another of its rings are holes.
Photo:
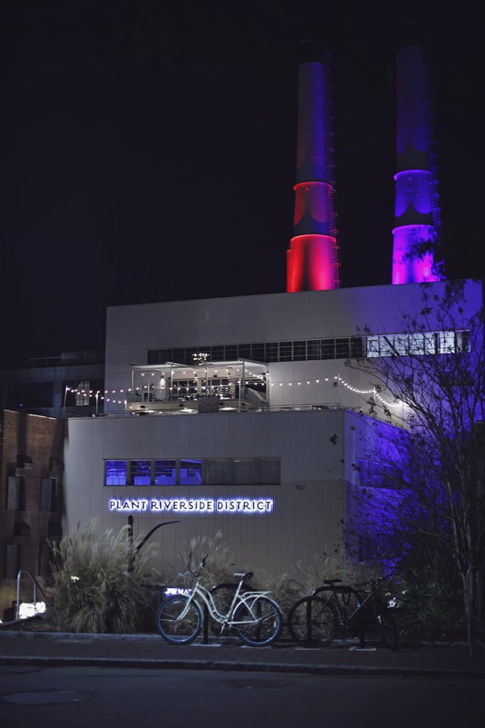
[[[150,660],[115,657],[0,657],[0,665],[33,667],[101,667],[144,670],[222,670],[224,672],[300,673],[308,675],[366,675],[420,678],[485,678],[474,670],[440,670],[436,668],[390,668],[356,665],[305,665],[300,662],[236,662],[231,660]]]

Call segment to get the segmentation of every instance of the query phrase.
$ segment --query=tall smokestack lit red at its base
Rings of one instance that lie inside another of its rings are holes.
[[[300,49],[301,50],[301,49]],[[336,215],[333,207],[332,114],[329,61],[306,58],[298,72],[297,175],[294,233],[286,252],[286,290],[338,288]]]

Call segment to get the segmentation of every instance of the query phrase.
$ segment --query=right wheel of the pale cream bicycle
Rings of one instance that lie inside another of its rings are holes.
[[[234,622],[239,639],[251,646],[270,644],[278,637],[283,625],[283,617],[278,605],[265,596],[252,602],[252,611],[246,604],[240,604],[234,614]]]

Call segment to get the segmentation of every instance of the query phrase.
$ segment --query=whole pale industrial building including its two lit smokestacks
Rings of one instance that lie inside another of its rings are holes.
[[[325,58],[300,64],[286,293],[111,306],[104,411],[65,422],[63,531],[176,521],[151,539],[165,579],[191,539],[218,531],[241,567],[273,575],[325,553],[372,558],[364,533],[348,550],[353,488],[385,489],[372,452],[406,412],[348,363],[467,350],[467,332],[436,312],[428,328],[403,328],[404,314],[420,317],[422,284],[438,298],[446,286],[431,245],[440,211],[422,49],[398,52],[391,285],[340,288],[327,71]],[[464,319],[481,284],[466,282],[465,301]]]

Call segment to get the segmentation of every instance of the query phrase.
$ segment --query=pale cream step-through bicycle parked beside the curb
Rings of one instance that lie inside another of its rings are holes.
[[[226,628],[233,628],[239,639],[250,646],[265,646],[276,640],[283,625],[281,611],[275,601],[268,598],[270,592],[243,591],[244,582],[251,579],[252,571],[234,574],[239,584],[228,611],[223,614],[217,609],[212,593],[201,585],[201,570],[207,556],[204,556],[199,571],[194,573],[189,559],[189,571],[196,582],[190,596],[171,596],[159,606],[156,627],[170,644],[189,644],[200,633],[202,610],[207,607],[209,617],[221,625],[220,636]]]

